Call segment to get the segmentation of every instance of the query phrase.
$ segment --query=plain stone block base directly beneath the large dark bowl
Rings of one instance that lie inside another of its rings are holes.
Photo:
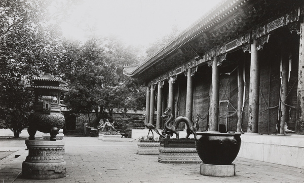
[[[200,174],[207,176],[218,176],[218,177],[235,176],[236,165],[235,164],[210,165],[210,164],[201,163]]]

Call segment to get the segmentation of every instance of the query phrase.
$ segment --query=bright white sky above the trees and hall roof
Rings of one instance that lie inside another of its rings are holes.
[[[62,23],[66,38],[115,35],[127,45],[147,46],[176,26],[182,31],[221,0],[84,0]]]

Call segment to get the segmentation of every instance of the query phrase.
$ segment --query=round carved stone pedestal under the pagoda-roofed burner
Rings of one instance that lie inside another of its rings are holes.
[[[25,140],[28,156],[22,163],[22,176],[31,179],[52,179],[66,176],[62,156],[64,141]]]

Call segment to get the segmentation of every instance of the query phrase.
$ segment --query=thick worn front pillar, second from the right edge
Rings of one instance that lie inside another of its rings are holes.
[[[249,119],[247,132],[257,133],[258,128],[258,104],[259,104],[259,61],[257,40],[251,45],[250,80],[249,80]]]

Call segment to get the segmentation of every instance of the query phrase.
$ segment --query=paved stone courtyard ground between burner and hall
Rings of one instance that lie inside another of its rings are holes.
[[[33,180],[21,175],[27,156],[25,142],[0,139],[1,147],[18,144],[19,151],[0,161],[4,182],[304,182],[304,169],[237,158],[236,176],[200,175],[200,164],[162,164],[158,155],[137,155],[137,142],[106,142],[97,137],[64,137],[67,176]],[[21,155],[15,158],[15,155]],[[278,157],[282,158],[282,157]],[[303,160],[300,160],[303,161]]]

